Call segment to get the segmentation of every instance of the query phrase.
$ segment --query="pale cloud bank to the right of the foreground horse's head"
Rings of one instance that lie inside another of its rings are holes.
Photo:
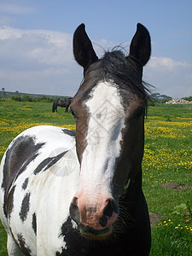
[[[144,79],[156,91],[172,97],[192,95],[192,64],[167,57],[152,56],[144,71]]]

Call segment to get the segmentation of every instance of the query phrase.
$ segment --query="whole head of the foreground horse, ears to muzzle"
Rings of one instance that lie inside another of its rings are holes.
[[[90,239],[111,235],[119,198],[141,172],[148,97],[142,75],[150,52],[150,36],[141,24],[128,56],[113,50],[99,59],[84,24],[74,32],[73,53],[84,81],[71,102],[80,178],[70,214]]]

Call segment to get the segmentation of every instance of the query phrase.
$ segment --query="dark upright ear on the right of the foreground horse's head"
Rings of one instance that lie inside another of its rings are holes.
[[[145,26],[138,23],[137,32],[131,40],[130,56],[144,66],[151,55],[151,39]]]

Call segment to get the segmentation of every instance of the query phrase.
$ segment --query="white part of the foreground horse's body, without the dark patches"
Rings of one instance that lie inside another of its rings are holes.
[[[65,134],[61,127],[41,125],[23,131],[20,136],[36,138],[35,143],[44,143],[38,150],[38,156],[27,166],[25,172],[20,173],[11,188],[15,187],[14,208],[10,215],[10,221],[3,214],[3,189],[0,188],[1,218],[6,230],[11,226],[15,238],[22,234],[26,246],[32,250],[32,255],[55,255],[62,247],[66,247],[61,235],[61,226],[67,221],[69,207],[73,195],[79,185],[79,160],[75,148],[75,138]],[[9,148],[13,145],[11,143]],[[55,165],[44,172],[33,174],[36,167],[43,160],[55,157],[61,152],[66,152]],[[0,180],[3,181],[3,165]],[[28,184],[22,189],[26,177]],[[10,189],[11,189],[10,188]],[[30,207],[24,222],[20,219],[20,206],[26,193],[30,193]],[[32,214],[36,213],[37,236],[32,230]],[[73,224],[73,228],[75,225]]]

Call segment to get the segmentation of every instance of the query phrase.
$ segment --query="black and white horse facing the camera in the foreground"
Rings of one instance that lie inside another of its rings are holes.
[[[151,53],[142,24],[130,53],[98,58],[81,24],[73,54],[84,80],[71,102],[76,131],[40,125],[18,135],[1,164],[0,215],[9,255],[143,255],[150,251],[142,189]]]

